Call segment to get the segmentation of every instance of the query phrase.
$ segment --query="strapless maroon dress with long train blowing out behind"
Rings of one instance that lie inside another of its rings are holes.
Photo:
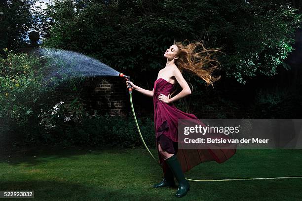
[[[197,120],[197,117],[177,109],[173,103],[158,100],[160,94],[168,96],[173,88],[174,85],[163,78],[159,78],[154,82],[154,129],[157,151],[158,143],[160,143],[163,150],[176,154],[183,172],[189,171],[189,169],[202,162],[216,161],[217,163],[223,163],[227,161],[236,153],[236,146],[229,149],[178,149],[178,120]],[[165,172],[168,167],[159,151],[158,157],[159,163]]]

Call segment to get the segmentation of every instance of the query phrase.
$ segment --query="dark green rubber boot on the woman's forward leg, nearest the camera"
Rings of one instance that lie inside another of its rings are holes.
[[[171,168],[178,181],[178,190],[175,196],[180,198],[187,195],[188,191],[190,190],[190,184],[183,173],[182,167],[180,166],[176,154],[166,159],[166,163]]]

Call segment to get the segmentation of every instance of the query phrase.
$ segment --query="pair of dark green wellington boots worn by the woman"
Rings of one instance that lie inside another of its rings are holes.
[[[190,185],[185,178],[176,154],[174,154],[170,158],[165,159],[165,162],[169,168],[166,169],[163,180],[158,184],[154,184],[153,188],[176,187],[174,181],[175,176],[176,180],[178,181],[178,190],[175,196],[180,198],[187,195],[188,191],[190,190]]]

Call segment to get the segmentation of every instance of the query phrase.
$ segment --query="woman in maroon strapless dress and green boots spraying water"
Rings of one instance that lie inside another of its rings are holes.
[[[196,51],[200,46],[202,51]],[[182,71],[186,69],[193,72],[201,77],[207,86],[210,84],[213,86],[213,82],[220,78],[220,76],[212,75],[213,70],[217,69],[217,66],[211,64],[211,62],[218,63],[217,60],[212,59],[216,52],[220,52],[219,49],[205,49],[201,42],[189,45],[176,42],[163,55],[167,59],[166,67],[159,70],[152,91],[126,81],[134,90],[153,98],[156,147],[164,173],[163,180],[154,184],[153,188],[174,187],[175,176],[178,181],[176,197],[185,196],[189,191],[190,185],[184,176],[186,171],[206,161],[223,163],[236,152],[235,147],[231,149],[178,149],[178,119],[197,119],[195,115],[177,109],[172,103],[191,94]],[[209,64],[212,67],[206,67]],[[179,83],[182,91],[171,98],[170,94],[176,82]]]

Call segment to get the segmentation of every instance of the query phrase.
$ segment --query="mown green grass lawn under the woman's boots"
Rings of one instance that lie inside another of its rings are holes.
[[[151,188],[162,170],[145,149],[36,148],[2,157],[0,170],[0,190],[34,190],[41,201],[302,200],[302,179],[190,182],[187,196],[175,198],[177,189]],[[302,176],[302,150],[238,149],[223,164],[206,162],[186,173],[191,179],[283,176]]]

